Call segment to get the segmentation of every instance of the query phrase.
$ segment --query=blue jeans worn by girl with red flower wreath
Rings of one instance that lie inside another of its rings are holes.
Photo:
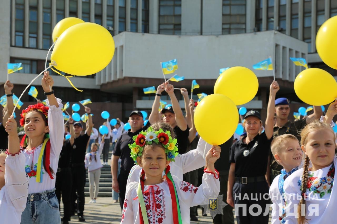
[[[59,201],[55,189],[41,193],[28,194],[21,224],[60,224]]]

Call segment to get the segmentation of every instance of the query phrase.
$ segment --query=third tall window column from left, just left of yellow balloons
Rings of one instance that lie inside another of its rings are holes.
[[[49,49],[52,39],[52,18],[51,18],[51,2],[43,0],[43,24],[42,24],[42,48]]]

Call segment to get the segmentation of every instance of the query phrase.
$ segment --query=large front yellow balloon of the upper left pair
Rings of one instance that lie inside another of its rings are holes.
[[[115,52],[115,43],[104,27],[95,23],[76,24],[55,43],[51,61],[70,75],[92,75],[104,69]]]

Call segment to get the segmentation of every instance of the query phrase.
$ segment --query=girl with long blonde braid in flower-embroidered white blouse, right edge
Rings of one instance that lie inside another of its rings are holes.
[[[337,165],[336,136],[329,124],[336,114],[337,101],[330,104],[324,123],[314,121],[301,132],[303,168],[284,182],[286,224],[334,223],[337,208],[333,187]]]

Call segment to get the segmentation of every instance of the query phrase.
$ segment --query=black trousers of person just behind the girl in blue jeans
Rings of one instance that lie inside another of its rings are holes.
[[[62,193],[62,202],[63,202],[63,217],[65,219],[70,218],[70,196],[72,188],[72,175],[70,172],[70,167],[56,173],[56,184],[55,184],[55,194],[59,201],[59,208],[61,210],[61,193]],[[60,211],[61,212],[61,211]]]

